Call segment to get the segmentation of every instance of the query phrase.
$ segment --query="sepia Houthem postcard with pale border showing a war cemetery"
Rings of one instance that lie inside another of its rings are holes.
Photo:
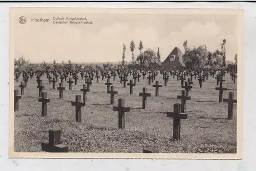
[[[243,10],[10,8],[11,158],[241,159]]]

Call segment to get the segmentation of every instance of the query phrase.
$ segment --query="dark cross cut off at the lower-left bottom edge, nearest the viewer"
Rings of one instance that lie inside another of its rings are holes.
[[[41,150],[50,153],[68,153],[69,146],[60,142],[60,130],[49,130],[49,142],[41,142]]]

